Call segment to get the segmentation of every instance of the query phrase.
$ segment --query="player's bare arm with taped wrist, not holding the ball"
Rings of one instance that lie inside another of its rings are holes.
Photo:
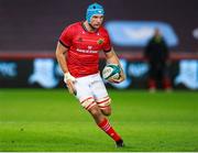
[[[57,62],[64,73],[64,81],[65,84],[67,84],[68,90],[70,94],[75,94],[75,87],[74,87],[74,83],[75,83],[75,77],[73,77],[69,74],[68,67],[67,67],[67,62],[65,58],[65,54],[66,52],[68,52],[68,48],[65,47],[64,45],[62,45],[59,42],[57,43],[57,47],[56,47],[56,58]]]

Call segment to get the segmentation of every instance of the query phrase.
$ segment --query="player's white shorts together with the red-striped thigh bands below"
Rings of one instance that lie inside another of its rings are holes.
[[[100,109],[106,109],[111,102],[99,73],[76,78],[75,89],[76,98],[87,110],[95,105],[98,105]]]

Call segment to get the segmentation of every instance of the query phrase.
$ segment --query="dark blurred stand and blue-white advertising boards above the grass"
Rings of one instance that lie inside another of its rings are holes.
[[[58,36],[66,25],[85,20],[91,2],[0,0],[0,87],[61,87],[62,72],[55,61]],[[128,74],[116,88],[146,87],[142,52],[158,26],[170,47],[174,87],[198,89],[196,0],[108,0],[101,4],[105,26]]]

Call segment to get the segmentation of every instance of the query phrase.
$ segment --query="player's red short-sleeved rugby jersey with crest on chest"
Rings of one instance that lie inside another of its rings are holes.
[[[74,77],[98,73],[99,52],[111,50],[109,34],[103,26],[91,33],[85,29],[82,22],[67,26],[63,31],[59,42],[69,48],[66,61],[68,70]]]

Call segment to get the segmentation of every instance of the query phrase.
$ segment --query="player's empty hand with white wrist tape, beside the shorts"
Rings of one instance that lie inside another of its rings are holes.
[[[74,84],[76,81],[76,78],[74,76],[72,76],[69,73],[65,73],[64,74],[64,81],[67,85],[69,94],[76,95],[76,89],[75,89],[75,86],[74,86]]]

